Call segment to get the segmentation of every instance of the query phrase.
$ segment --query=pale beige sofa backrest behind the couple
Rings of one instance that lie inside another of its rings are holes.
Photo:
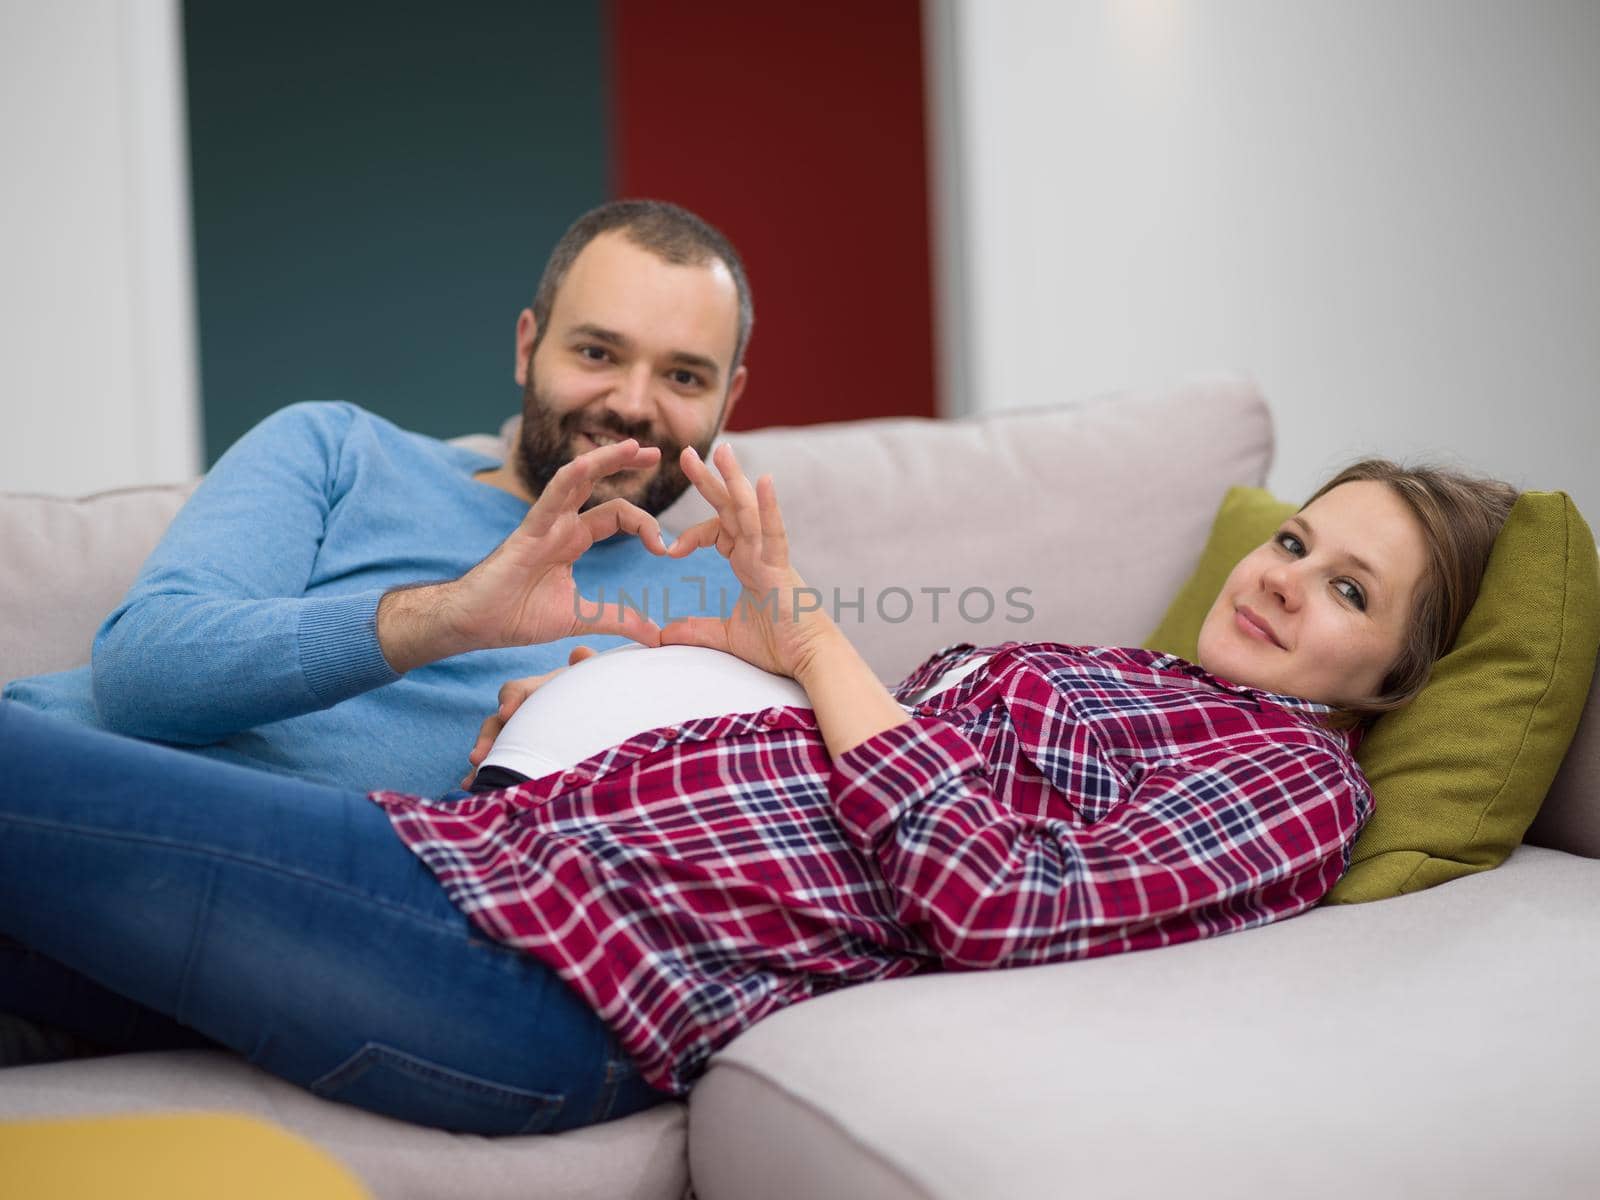
[[[461,442],[494,454],[514,434],[510,421],[501,437]],[[954,642],[1144,640],[1194,568],[1222,493],[1261,483],[1272,458],[1261,395],[1227,379],[968,421],[728,440],[752,477],[778,482],[795,560],[822,602],[859,594],[861,608],[840,616],[885,678]],[[192,490],[0,494],[0,685],[88,662],[99,622]],[[685,496],[662,525],[677,531],[704,515]],[[1006,598],[1018,587],[1029,589],[1027,621]],[[1600,858],[1597,696],[1600,682],[1528,830],[1528,842],[1590,858]]]

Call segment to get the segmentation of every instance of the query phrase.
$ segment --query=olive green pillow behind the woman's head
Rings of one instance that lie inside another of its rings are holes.
[[[1200,565],[1146,645],[1192,659],[1227,573],[1293,510],[1261,488],[1229,491]],[[1386,899],[1499,866],[1566,755],[1597,646],[1594,534],[1565,493],[1525,491],[1456,645],[1422,693],[1362,739],[1373,819],[1328,899]]]

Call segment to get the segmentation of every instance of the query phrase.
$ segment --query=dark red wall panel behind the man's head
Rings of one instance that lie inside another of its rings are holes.
[[[730,426],[933,416],[918,0],[611,0],[613,194],[720,227],[755,294]]]

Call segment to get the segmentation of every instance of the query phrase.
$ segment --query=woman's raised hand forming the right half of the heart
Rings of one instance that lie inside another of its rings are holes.
[[[717,446],[712,462],[717,474],[693,446],[683,450],[683,474],[717,515],[685,530],[667,554],[682,558],[715,546],[744,590],[730,616],[674,621],[661,630],[661,645],[710,646],[794,677],[837,630],[826,613],[800,605],[805,581],[789,563],[789,536],[771,475],[752,485],[726,443]]]

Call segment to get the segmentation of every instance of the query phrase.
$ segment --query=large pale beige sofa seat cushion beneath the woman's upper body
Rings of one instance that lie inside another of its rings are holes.
[[[875,1195],[830,1187],[872,1158],[896,1198],[1589,1195],[1595,946],[1600,870],[1523,846],[1226,938],[845,989],[712,1059],[694,1192]]]

